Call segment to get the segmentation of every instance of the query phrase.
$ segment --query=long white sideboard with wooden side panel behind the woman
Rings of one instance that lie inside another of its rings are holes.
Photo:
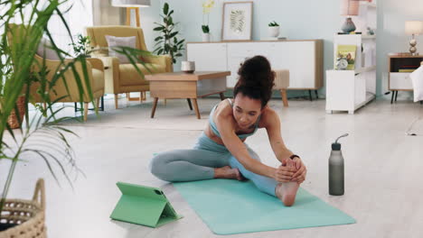
[[[317,90],[323,87],[323,41],[214,41],[188,42],[187,59],[199,71],[229,70],[227,87],[234,87],[240,63],[262,55],[272,69],[289,69],[287,89]]]

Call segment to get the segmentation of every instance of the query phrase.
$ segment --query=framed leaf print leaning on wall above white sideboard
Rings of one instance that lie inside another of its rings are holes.
[[[253,2],[223,3],[222,41],[250,41]]]

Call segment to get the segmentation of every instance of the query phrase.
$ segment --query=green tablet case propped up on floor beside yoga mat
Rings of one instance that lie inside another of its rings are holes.
[[[123,182],[118,182],[117,185],[122,197],[110,215],[112,219],[158,227],[183,217],[176,214],[160,188]]]

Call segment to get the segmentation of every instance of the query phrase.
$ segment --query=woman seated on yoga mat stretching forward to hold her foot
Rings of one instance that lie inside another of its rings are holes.
[[[228,98],[211,109],[209,123],[193,150],[157,154],[150,163],[157,178],[170,182],[211,178],[248,178],[256,187],[292,206],[299,184],[305,180],[305,165],[285,146],[277,113],[268,107],[275,73],[268,59],[255,56],[239,69],[239,80]],[[261,163],[244,143],[258,128],[266,128],[278,168]]]

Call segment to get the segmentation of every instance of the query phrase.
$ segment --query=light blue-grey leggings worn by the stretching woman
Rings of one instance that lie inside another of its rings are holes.
[[[244,143],[249,155],[260,161],[256,152]],[[225,146],[213,142],[202,133],[193,150],[165,151],[157,154],[150,162],[150,171],[155,177],[169,182],[195,181],[214,178],[214,169],[229,165],[237,168],[245,178],[253,181],[256,187],[275,196],[277,181],[255,174],[242,166]]]

